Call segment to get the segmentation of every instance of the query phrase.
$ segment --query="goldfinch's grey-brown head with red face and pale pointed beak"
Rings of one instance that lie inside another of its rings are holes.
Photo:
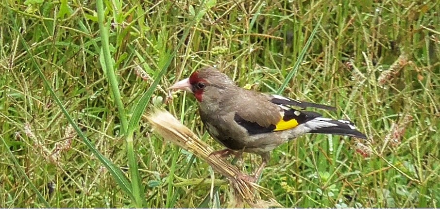
[[[193,72],[189,78],[174,83],[169,89],[185,90],[194,94],[196,99],[202,102],[205,96],[214,99],[224,90],[235,87],[234,82],[216,68],[203,67]]]

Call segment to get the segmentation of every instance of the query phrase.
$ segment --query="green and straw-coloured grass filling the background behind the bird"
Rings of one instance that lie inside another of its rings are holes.
[[[438,1],[189,3],[0,3],[0,207],[228,207],[223,181],[208,199],[220,175],[141,118],[165,107],[220,149],[167,90],[204,65],[368,135],[274,150],[260,185],[284,207],[440,205]]]

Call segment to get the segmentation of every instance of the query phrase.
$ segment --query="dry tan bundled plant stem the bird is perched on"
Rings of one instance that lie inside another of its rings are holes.
[[[189,128],[182,125],[169,112],[152,112],[148,120],[155,127],[155,131],[166,140],[177,143],[198,158],[206,160],[216,172],[226,176],[234,190],[237,205],[241,205],[242,201],[245,201],[251,207],[279,206],[279,204],[274,201],[266,202],[257,199],[254,194],[254,189],[257,189],[258,185],[247,180],[247,175],[241,173],[236,166],[221,159],[220,155],[214,154],[210,156],[214,150],[206,143],[203,143]]]

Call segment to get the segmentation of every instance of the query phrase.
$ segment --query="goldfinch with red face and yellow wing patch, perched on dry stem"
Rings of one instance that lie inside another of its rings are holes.
[[[334,120],[305,111],[307,108],[335,111],[334,107],[241,88],[212,66],[193,72],[169,89],[185,90],[195,96],[209,135],[226,147],[213,154],[225,157],[248,152],[261,156],[260,166],[248,178],[253,182],[269,162],[270,152],[299,136],[321,133],[367,139],[349,120]]]

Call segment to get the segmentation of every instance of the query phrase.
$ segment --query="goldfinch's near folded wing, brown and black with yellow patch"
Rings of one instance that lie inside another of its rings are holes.
[[[322,116],[274,103],[271,97],[250,91],[237,101],[241,103],[236,105],[234,121],[251,135],[291,129]]]

